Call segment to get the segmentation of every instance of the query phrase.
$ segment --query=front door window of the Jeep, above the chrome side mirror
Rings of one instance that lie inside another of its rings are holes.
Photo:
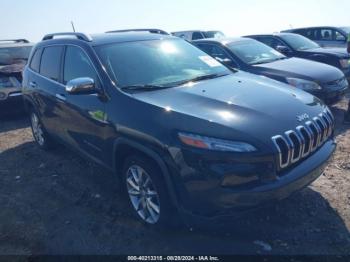
[[[64,83],[79,77],[90,77],[95,80],[95,83],[98,79],[96,70],[86,53],[79,47],[68,46],[64,59]]]

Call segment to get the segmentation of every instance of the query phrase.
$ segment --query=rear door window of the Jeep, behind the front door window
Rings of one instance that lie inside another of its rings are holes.
[[[40,64],[40,74],[58,81],[62,57],[62,46],[46,47],[43,51]]]

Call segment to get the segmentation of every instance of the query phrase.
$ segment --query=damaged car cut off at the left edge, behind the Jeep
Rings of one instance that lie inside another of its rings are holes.
[[[32,46],[25,39],[0,40],[0,115],[23,110],[22,71]]]

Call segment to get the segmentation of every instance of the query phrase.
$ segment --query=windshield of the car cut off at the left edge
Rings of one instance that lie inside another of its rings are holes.
[[[27,61],[32,46],[0,47],[0,65],[11,65]]]

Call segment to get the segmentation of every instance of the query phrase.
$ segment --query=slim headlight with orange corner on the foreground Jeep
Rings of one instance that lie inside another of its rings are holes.
[[[179,138],[182,143],[188,146],[208,149],[214,151],[229,151],[229,152],[254,152],[257,149],[247,143],[239,141],[228,141],[218,138],[211,138],[189,133],[179,133]]]

